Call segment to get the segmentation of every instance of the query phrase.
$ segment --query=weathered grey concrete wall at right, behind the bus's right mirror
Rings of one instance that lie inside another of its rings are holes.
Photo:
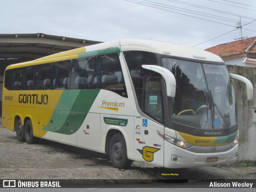
[[[232,80],[238,107],[239,149],[238,161],[256,161],[256,68],[228,65],[230,73],[248,78],[254,86],[253,100],[247,100],[246,85]]]

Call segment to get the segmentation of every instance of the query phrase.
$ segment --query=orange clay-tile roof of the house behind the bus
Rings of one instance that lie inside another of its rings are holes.
[[[240,54],[243,52],[256,53],[256,37],[251,37],[243,40],[220,44],[206,49],[220,57]]]

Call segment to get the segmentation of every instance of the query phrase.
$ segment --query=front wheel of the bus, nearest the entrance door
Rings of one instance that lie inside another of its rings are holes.
[[[116,133],[112,136],[109,145],[109,156],[115,168],[128,168],[132,164],[132,160],[127,158],[126,142],[122,134]]]

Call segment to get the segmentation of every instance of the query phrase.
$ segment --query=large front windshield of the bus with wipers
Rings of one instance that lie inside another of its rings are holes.
[[[196,130],[229,130],[237,124],[236,102],[225,65],[162,58],[176,78],[172,122]]]

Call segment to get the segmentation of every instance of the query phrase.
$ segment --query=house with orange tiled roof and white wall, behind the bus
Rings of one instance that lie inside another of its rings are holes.
[[[220,44],[206,51],[220,56],[228,65],[256,67],[256,37]]]

